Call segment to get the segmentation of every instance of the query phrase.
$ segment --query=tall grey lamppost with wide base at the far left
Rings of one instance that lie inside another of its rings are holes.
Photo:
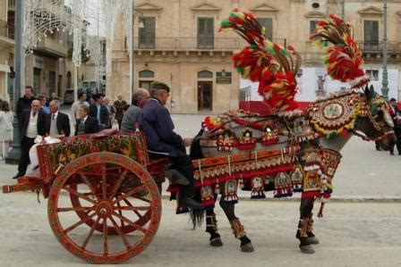
[[[5,158],[5,163],[17,164],[21,158],[21,128],[20,121],[17,117],[17,103],[21,97],[22,88],[22,75],[25,71],[23,67],[23,56],[22,51],[22,0],[15,0],[15,50],[14,50],[14,67],[15,67],[15,79],[13,88],[13,99],[14,99],[14,120],[13,120],[13,149],[10,151],[8,156]]]

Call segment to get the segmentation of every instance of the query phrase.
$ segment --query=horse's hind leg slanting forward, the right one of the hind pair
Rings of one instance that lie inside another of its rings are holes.
[[[224,197],[222,196],[222,198]],[[252,246],[251,239],[246,236],[245,231],[243,230],[243,225],[241,224],[240,220],[237,217],[235,217],[235,204],[226,203],[221,199],[219,204],[223,209],[224,213],[226,213],[228,221],[230,221],[231,229],[233,229],[235,238],[241,240],[241,251],[252,252],[254,249]]]

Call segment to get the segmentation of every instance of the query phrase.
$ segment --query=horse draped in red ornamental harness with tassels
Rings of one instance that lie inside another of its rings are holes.
[[[207,206],[210,246],[223,246],[214,213],[218,195],[241,251],[252,252],[252,241],[235,215],[237,189],[252,190],[252,198],[264,198],[264,191],[271,190],[275,197],[302,192],[295,237],[301,252],[313,254],[311,245],[320,242],[312,229],[313,204],[330,196],[339,152],[354,135],[389,150],[396,141],[393,126],[388,104],[368,87],[364,93],[348,90],[315,101],[306,113],[260,116],[239,111],[207,117],[190,154],[199,197]],[[195,216],[200,222],[202,217]]]

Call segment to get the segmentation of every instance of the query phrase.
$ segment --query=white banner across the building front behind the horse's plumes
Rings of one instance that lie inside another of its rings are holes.
[[[381,79],[383,70],[381,69],[366,69],[367,74],[371,76],[371,82],[369,85],[372,85],[375,88],[376,92],[381,95]],[[326,69],[323,68],[302,68],[297,75],[298,82],[298,92],[295,96],[296,101],[300,102],[312,102],[316,99],[323,98],[338,92],[340,90],[344,90],[346,88],[350,88],[348,83],[342,83],[338,80],[333,80],[327,75]],[[260,101],[262,97],[258,94],[258,82],[252,82],[249,79],[241,79],[240,80],[240,88],[243,90],[246,88],[247,92],[246,100],[252,101]],[[398,90],[398,70],[389,69],[388,70],[388,98],[396,98],[397,99],[397,90]]]

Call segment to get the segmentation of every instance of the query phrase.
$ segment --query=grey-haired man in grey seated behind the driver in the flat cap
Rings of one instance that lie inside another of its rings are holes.
[[[139,88],[132,95],[132,104],[124,113],[123,121],[121,123],[121,130],[123,133],[135,131],[135,123],[138,121],[138,116],[141,113],[141,108],[149,100],[149,91],[145,88]]]

